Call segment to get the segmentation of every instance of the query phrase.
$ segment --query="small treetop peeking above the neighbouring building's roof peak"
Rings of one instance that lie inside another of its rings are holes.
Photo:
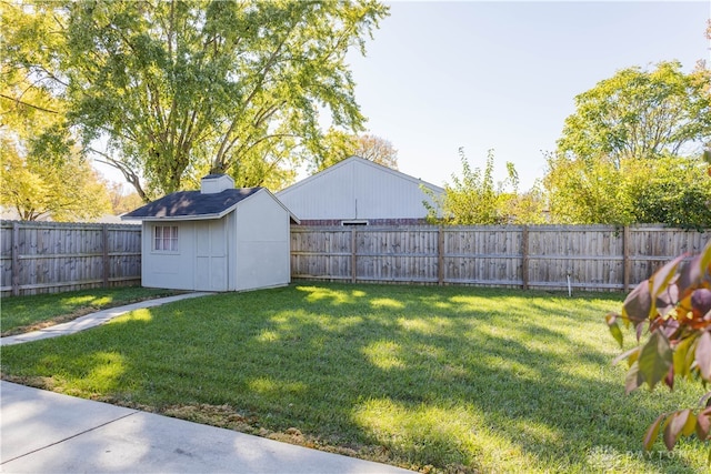
[[[314,163],[314,172],[324,170],[350,157],[360,157],[373,163],[398,169],[398,150],[390,140],[373,135],[356,135],[342,130],[330,129],[323,137],[323,154]]]

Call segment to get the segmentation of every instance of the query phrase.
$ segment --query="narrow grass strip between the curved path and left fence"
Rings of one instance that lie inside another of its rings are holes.
[[[172,290],[122,286],[33,296],[8,296],[0,301],[0,331],[2,336],[18,334],[70,321],[92,311],[176,293]]]

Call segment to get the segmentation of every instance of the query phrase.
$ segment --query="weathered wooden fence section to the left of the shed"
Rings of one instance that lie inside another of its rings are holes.
[[[141,226],[0,223],[1,294],[56,293],[141,282]]]

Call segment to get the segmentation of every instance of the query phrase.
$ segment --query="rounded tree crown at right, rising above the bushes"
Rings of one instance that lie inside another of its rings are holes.
[[[561,154],[590,161],[693,155],[711,142],[711,71],[684,74],[677,61],[628,68],[575,97],[558,141]]]

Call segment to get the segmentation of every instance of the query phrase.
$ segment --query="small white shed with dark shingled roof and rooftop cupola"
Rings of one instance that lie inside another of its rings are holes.
[[[168,194],[122,216],[142,221],[142,285],[243,291],[291,280],[289,229],[297,218],[264,188],[234,189],[224,174],[200,191]]]

